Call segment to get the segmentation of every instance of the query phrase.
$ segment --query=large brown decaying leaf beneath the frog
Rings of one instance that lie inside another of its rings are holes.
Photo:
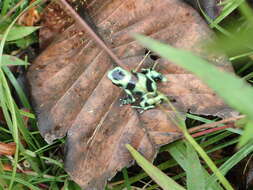
[[[92,0],[82,8],[129,70],[137,67],[147,51],[131,37],[138,32],[194,51],[232,71],[224,57],[208,55],[201,48],[201,41],[210,39],[210,30],[182,1]],[[49,143],[67,135],[66,170],[83,188],[103,189],[108,179],[132,162],[125,144],[152,160],[158,147],[181,136],[171,121],[175,113],[166,105],[166,111],[156,108],[143,114],[120,106],[124,94],[106,77],[113,68],[111,59],[78,23],[64,16],[59,4],[50,4],[47,12],[41,33],[44,42],[52,43],[28,72],[40,132]],[[173,63],[157,61],[157,70],[169,81],[159,85],[159,90],[173,97],[182,117],[187,111],[220,117],[233,114],[195,76]],[[150,57],[145,59],[144,66],[151,62]]]

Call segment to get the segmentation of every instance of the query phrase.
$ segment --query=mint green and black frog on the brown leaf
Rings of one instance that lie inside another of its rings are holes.
[[[132,105],[133,108],[141,109],[140,113],[167,100],[165,95],[157,91],[157,82],[166,82],[167,79],[154,68],[142,68],[137,72],[117,66],[107,73],[107,77],[127,94],[126,98],[121,99],[122,105],[134,104],[135,95],[140,97],[139,105]]]

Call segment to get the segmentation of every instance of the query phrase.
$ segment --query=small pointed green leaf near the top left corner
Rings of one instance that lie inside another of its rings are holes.
[[[39,26],[13,26],[7,36],[6,41],[13,41],[24,38],[29,34],[38,30]],[[3,38],[3,34],[0,34],[0,39]]]

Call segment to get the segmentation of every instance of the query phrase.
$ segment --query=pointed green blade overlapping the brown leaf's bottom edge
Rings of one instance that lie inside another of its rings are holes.
[[[142,169],[164,190],[185,190],[182,186],[177,184],[173,179],[164,174],[157,167],[147,161],[139,152],[137,152],[131,145],[127,144],[126,148],[134,157],[136,162]]]

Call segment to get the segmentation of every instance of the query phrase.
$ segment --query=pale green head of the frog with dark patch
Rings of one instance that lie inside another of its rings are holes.
[[[112,81],[113,84],[117,86],[122,86],[126,77],[129,75],[129,72],[121,67],[115,67],[110,70],[107,74],[107,77]]]

